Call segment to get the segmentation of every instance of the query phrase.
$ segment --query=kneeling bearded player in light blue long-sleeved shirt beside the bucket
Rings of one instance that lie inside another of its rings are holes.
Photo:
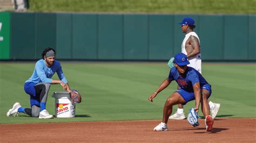
[[[55,72],[57,72],[60,80],[51,79]],[[53,48],[45,48],[42,53],[42,59],[36,62],[32,76],[25,81],[24,85],[26,94],[30,95],[31,108],[23,108],[17,102],[6,113],[6,116],[18,116],[22,112],[31,117],[39,117],[39,119],[53,118],[45,109],[50,84],[60,84],[64,90],[70,92],[69,84],[63,74],[60,62],[55,60],[55,50]]]

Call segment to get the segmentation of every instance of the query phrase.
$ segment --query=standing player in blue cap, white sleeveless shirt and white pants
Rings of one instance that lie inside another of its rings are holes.
[[[197,33],[193,31],[193,29],[196,27],[196,25],[194,25],[194,20],[190,17],[185,17],[183,21],[179,24],[181,24],[182,32],[186,33],[185,38],[181,45],[181,53],[186,54],[188,61],[190,61],[190,64],[187,66],[193,67],[201,74],[200,40]],[[172,60],[170,60],[169,65],[171,62]],[[208,101],[208,103],[210,105],[212,118],[214,119],[219,111],[220,104],[213,103],[211,101]],[[185,119],[185,118],[186,116],[184,114],[182,104],[178,104],[177,112],[169,117],[169,119]]]

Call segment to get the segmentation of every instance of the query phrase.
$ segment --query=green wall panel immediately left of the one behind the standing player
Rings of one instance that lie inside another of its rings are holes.
[[[173,32],[173,16],[149,16],[149,60],[166,60],[174,55]]]

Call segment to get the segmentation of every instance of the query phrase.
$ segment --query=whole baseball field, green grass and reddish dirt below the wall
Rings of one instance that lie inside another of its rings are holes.
[[[169,75],[165,62],[63,61],[62,68],[70,87],[82,94],[82,103],[76,105],[75,118],[38,119],[24,114],[6,117],[15,102],[23,107],[30,106],[29,95],[23,87],[34,66],[35,62],[0,63],[2,141],[9,141],[10,135],[18,137],[13,141],[71,141],[69,138],[75,138],[77,134],[80,136],[77,141],[100,142],[174,141],[184,134],[187,138],[198,136],[206,141],[256,141],[255,63],[203,62],[202,74],[213,90],[210,100],[221,104],[212,133],[205,132],[203,119],[199,120],[199,127],[192,127],[186,120],[169,120],[169,131],[153,132],[153,127],[161,121],[166,98],[177,86],[172,82],[153,103],[147,100]],[[55,98],[51,96],[55,91],[62,91],[62,87],[51,85],[46,109],[52,115],[55,114]],[[184,106],[186,115],[193,106],[194,101]],[[173,111],[176,109],[174,106]],[[199,115],[202,117],[201,111]],[[65,131],[69,131],[65,134],[72,134],[72,131],[74,134],[58,138]],[[30,137],[28,132],[39,134]],[[49,138],[43,138],[42,134]],[[227,138],[228,135],[235,137]]]

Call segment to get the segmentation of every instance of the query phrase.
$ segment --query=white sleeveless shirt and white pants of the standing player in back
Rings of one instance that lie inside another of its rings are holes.
[[[198,37],[197,33],[196,32],[187,33],[185,35],[185,38],[184,38],[182,44],[181,44],[181,53],[183,53],[185,55],[187,55],[186,48],[185,48],[186,41],[190,37],[190,35],[193,35],[194,37],[197,37],[197,39],[199,41],[199,46],[200,46],[200,40],[199,40],[199,37]],[[191,57],[190,59],[188,59],[188,61],[190,61],[190,64],[187,65],[187,66],[196,69],[201,74],[201,53]]]

